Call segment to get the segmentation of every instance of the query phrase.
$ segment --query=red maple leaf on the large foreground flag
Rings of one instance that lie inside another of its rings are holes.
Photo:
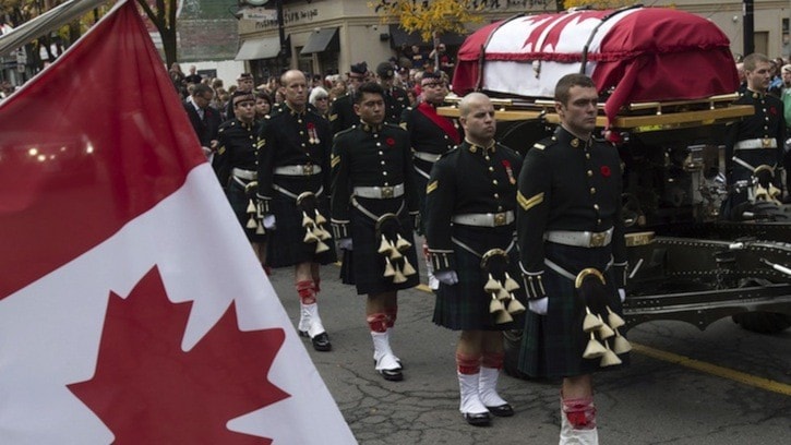
[[[96,372],[69,389],[112,431],[115,444],[271,444],[226,423],[290,396],[267,380],[284,330],[240,332],[231,303],[184,352],[191,308],[168,300],[157,267],[125,300],[110,292]]]

